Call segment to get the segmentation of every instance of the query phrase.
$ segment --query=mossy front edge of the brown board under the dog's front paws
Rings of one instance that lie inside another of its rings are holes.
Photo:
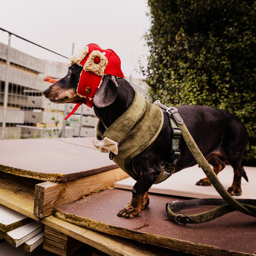
[[[113,226],[107,223],[99,222],[97,220],[88,219],[84,217],[79,217],[74,214],[68,214],[61,210],[55,209],[54,216],[56,218],[65,220],[67,222],[85,226],[86,228],[90,228],[93,230],[97,230],[103,233],[107,233],[110,235],[117,235],[124,238],[137,240],[139,242],[144,242],[146,244],[152,244],[156,246],[165,247],[168,249],[182,251],[197,255],[205,255],[205,256],[252,256],[254,254],[247,254],[244,252],[235,252],[230,250],[220,249],[216,246],[205,245],[205,244],[195,244],[190,241],[180,240],[177,238],[170,238],[150,233],[142,233],[139,231],[122,228],[119,226]]]

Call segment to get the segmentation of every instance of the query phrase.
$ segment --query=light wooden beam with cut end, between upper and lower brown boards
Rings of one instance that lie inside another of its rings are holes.
[[[126,177],[128,175],[124,171],[116,168],[65,183],[39,183],[35,187],[34,215],[38,218],[46,217],[53,213],[55,207],[113,187],[114,182]]]

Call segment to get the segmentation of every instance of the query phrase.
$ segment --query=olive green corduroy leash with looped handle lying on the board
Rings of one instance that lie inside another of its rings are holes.
[[[167,107],[160,103],[160,101],[155,101],[155,105],[163,108],[175,121],[177,126],[181,129],[182,136],[191,151],[192,155],[196,159],[199,166],[202,168],[206,176],[209,178],[210,182],[217,190],[217,192],[222,196],[223,199],[194,199],[188,200],[185,202],[172,202],[166,204],[166,210],[168,213],[168,217],[171,220],[176,221],[178,224],[198,224],[208,222],[210,220],[216,219],[228,212],[232,212],[234,210],[238,210],[247,215],[251,215],[256,217],[256,200],[254,199],[234,199],[228,191],[223,187],[222,183],[220,183],[217,175],[213,171],[213,169],[208,164],[207,160],[204,158],[202,152],[194,142],[190,132],[188,131],[183,119],[181,118],[178,110],[174,107]],[[201,206],[201,205],[218,205],[218,207],[209,210],[207,212],[193,214],[193,215],[182,215],[176,214],[176,211],[181,209]]]

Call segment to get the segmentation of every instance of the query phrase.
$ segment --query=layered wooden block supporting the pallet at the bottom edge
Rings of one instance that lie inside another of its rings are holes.
[[[70,256],[77,251],[83,243],[55,229],[46,226],[44,230],[43,249],[60,256]]]

